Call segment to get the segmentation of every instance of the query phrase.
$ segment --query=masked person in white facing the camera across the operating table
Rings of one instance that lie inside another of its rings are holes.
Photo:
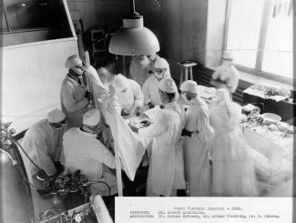
[[[169,66],[167,60],[159,56],[152,62],[153,75],[148,77],[142,88],[144,94],[144,105],[148,108],[162,105],[158,93],[159,82],[165,77],[169,76]],[[177,93],[176,98],[179,97]]]

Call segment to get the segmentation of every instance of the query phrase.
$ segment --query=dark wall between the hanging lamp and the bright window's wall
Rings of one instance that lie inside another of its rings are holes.
[[[144,15],[144,25],[158,36],[159,55],[168,60],[172,76],[179,78],[179,61],[204,63],[207,0],[141,0],[136,9]]]

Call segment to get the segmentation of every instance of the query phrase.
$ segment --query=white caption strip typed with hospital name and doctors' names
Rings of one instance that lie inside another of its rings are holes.
[[[116,198],[116,223],[292,223],[292,198]]]

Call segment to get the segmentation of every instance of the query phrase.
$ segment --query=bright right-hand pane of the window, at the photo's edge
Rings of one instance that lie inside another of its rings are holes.
[[[293,78],[292,12],[288,16],[287,5],[282,5],[281,13],[274,16],[274,9],[274,6],[270,7],[262,70]]]

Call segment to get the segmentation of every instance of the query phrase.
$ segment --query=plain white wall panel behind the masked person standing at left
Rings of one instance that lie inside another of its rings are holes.
[[[77,54],[75,38],[1,48],[2,116],[17,132],[60,107],[67,56]]]

